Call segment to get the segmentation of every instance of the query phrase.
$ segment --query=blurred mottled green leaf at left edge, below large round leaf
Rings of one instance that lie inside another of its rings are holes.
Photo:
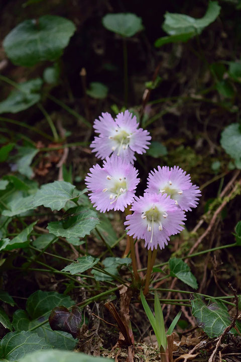
[[[0,102],[0,114],[18,113],[39,102],[42,84],[43,80],[41,78],[19,83],[18,89],[14,89],[5,101]]]

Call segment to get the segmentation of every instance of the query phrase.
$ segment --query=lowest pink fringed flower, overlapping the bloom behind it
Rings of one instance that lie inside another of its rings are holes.
[[[161,249],[167,245],[170,235],[178,234],[184,228],[185,213],[176,206],[170,196],[162,194],[144,194],[135,198],[132,215],[127,216],[125,225],[128,235],[144,239],[148,249]]]

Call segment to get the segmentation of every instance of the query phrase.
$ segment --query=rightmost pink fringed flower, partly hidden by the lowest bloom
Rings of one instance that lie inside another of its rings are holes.
[[[176,202],[182,210],[191,211],[198,205],[198,198],[201,191],[196,185],[192,185],[190,175],[174,166],[169,169],[167,166],[158,166],[158,171],[154,169],[149,173],[147,179],[147,193],[167,194]]]

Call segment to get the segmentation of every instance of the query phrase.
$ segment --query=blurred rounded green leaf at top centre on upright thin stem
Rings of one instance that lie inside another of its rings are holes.
[[[103,26],[123,37],[132,37],[143,30],[142,19],[135,14],[107,14],[102,19]]]

